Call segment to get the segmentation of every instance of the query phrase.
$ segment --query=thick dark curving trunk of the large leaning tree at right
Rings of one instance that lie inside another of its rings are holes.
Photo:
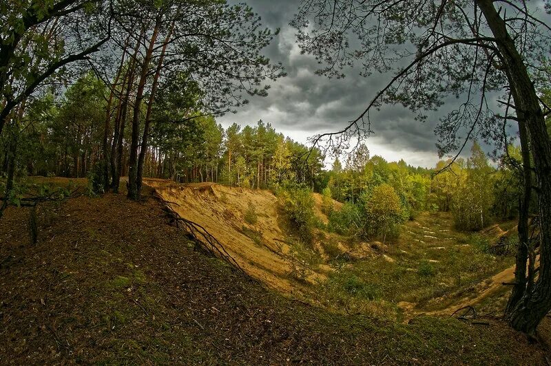
[[[533,336],[543,317],[551,310],[551,141],[534,85],[505,22],[491,0],[478,0],[477,5],[497,39],[500,61],[510,83],[517,117],[526,121],[537,172],[541,233],[539,278],[530,291],[525,290],[508,314],[508,322],[514,329]]]

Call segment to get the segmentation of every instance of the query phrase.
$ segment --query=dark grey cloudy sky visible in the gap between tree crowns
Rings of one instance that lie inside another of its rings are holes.
[[[265,50],[271,61],[281,61],[287,77],[272,83],[266,98],[249,98],[249,105],[238,114],[218,118],[224,127],[236,122],[255,125],[260,119],[270,122],[276,131],[306,143],[315,133],[337,131],[346,121],[355,119],[368,105],[389,76],[360,76],[359,69],[346,69],[340,80],[316,76],[318,64],[312,56],[301,55],[295,44],[295,29],[289,21],[297,10],[298,0],[250,0],[264,25],[281,28],[280,34]],[[451,107],[451,106],[450,106]],[[438,160],[434,129],[438,116],[429,114],[427,122],[417,122],[402,107],[385,106],[371,115],[375,135],[367,141],[371,155],[386,160],[403,158],[408,164],[434,166]],[[466,150],[468,153],[468,149]]]

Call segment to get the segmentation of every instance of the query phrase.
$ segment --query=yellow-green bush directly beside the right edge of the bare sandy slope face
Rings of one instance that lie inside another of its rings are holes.
[[[311,191],[304,188],[278,189],[280,206],[289,218],[291,230],[301,240],[311,242],[312,230],[316,225],[314,199]]]

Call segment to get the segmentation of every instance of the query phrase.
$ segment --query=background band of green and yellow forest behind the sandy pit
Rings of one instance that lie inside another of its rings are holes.
[[[107,85],[88,73],[63,96],[45,94],[32,100],[21,117],[27,128],[18,138],[19,175],[92,180],[101,175],[105,171],[101,151],[109,95]],[[488,164],[477,143],[468,160],[441,161],[435,169],[424,169],[408,166],[404,160],[386,162],[380,156],[372,157],[361,144],[345,157],[344,166],[337,158],[326,170],[321,151],[310,151],[304,144],[285,138],[269,123],[260,120],[254,127],[233,124],[223,129],[214,117],[205,116],[193,106],[191,103],[178,111],[175,118],[175,111],[167,109],[163,98],[154,103],[144,176],[255,189],[304,186],[320,193],[326,189],[325,194],[334,200],[357,208],[367,202],[373,206],[371,197],[375,192],[380,197],[377,201],[385,201],[380,204],[396,211],[391,215],[395,221],[414,217],[420,211],[451,211],[457,225],[469,230],[486,226],[494,218],[517,215],[520,181],[514,164],[519,164],[520,152],[513,147],[498,169]],[[117,140],[121,141],[120,147],[115,146],[114,139],[107,136],[106,145],[113,151],[120,150],[116,154],[121,155],[121,174],[127,175],[131,133],[125,130],[123,138]],[[3,171],[9,154],[8,144],[1,144]],[[353,217],[353,209],[346,209]],[[368,213],[362,210],[355,215],[366,217]],[[351,224],[357,226],[353,219],[344,220],[342,225]]]

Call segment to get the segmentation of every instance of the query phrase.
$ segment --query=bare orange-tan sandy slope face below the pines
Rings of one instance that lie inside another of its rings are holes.
[[[287,294],[302,293],[300,277],[315,284],[326,279],[322,270],[315,272],[291,257],[287,236],[279,225],[278,199],[270,191],[222,186],[214,183],[176,184],[166,180],[145,180],[171,208],[185,219],[203,226],[251,277]],[[321,196],[315,198],[316,212],[321,213]],[[245,221],[253,206],[257,222]]]

